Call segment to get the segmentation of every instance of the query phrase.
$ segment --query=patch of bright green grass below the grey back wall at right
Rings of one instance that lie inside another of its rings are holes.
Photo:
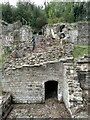
[[[78,58],[83,55],[86,55],[88,54],[89,49],[90,49],[90,46],[74,46],[73,53],[72,53],[73,57]]]

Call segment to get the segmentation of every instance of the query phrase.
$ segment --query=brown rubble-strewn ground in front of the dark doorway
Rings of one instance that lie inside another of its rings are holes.
[[[63,103],[47,99],[44,104],[16,104],[8,118],[71,118]]]

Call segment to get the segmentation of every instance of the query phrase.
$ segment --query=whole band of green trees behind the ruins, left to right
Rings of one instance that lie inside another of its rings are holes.
[[[47,22],[90,21],[90,2],[50,2],[44,8],[30,2],[18,2],[17,6],[2,4],[2,20],[13,23],[20,20],[39,30]],[[0,5],[1,6],[1,5]],[[0,17],[1,19],[1,17]]]

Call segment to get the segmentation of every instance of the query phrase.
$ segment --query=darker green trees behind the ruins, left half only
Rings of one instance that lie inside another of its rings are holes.
[[[7,23],[20,20],[22,24],[31,25],[36,30],[47,23],[45,11],[29,2],[18,2],[16,7],[9,3],[2,4],[2,20]]]

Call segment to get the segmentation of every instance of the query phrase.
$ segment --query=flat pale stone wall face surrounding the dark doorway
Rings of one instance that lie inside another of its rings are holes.
[[[63,64],[47,63],[28,66],[4,73],[3,89],[10,92],[17,103],[41,103],[45,100],[46,81],[58,81],[58,100],[62,96]]]

